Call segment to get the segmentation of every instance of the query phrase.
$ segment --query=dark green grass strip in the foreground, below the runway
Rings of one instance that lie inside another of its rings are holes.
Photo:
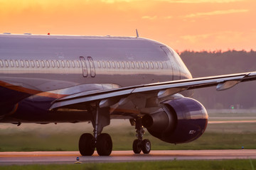
[[[189,169],[189,170],[211,170],[211,169],[255,169],[256,166],[256,160],[250,160],[250,159],[234,159],[234,160],[213,160],[213,161],[164,161],[164,162],[123,162],[123,163],[88,163],[88,164],[34,164],[34,165],[11,165],[11,166],[0,166],[1,170],[32,170],[32,169],[38,169],[38,170],[51,170],[51,169],[59,169],[59,170],[101,170],[101,169],[139,169],[139,170],[156,170],[156,169]]]

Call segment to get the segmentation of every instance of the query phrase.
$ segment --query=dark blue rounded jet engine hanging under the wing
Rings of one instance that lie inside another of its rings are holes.
[[[161,111],[142,118],[142,125],[151,135],[175,144],[196,140],[205,132],[207,123],[206,108],[185,97],[166,101]]]

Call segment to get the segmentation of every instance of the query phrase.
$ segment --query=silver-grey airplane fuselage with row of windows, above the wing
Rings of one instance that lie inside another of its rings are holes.
[[[191,78],[177,53],[154,40],[0,35],[0,107],[6,108],[0,119],[15,113],[18,103],[33,106],[19,107],[32,114],[38,108],[48,111],[53,100],[80,91]]]

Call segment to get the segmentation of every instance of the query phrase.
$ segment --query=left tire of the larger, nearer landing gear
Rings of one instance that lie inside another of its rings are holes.
[[[92,156],[95,152],[95,137],[90,133],[84,133],[79,140],[79,152],[82,156]]]

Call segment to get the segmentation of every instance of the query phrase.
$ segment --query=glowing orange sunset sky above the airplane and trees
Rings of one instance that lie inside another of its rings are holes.
[[[256,50],[255,0],[0,0],[0,33],[125,35],[175,50]]]

